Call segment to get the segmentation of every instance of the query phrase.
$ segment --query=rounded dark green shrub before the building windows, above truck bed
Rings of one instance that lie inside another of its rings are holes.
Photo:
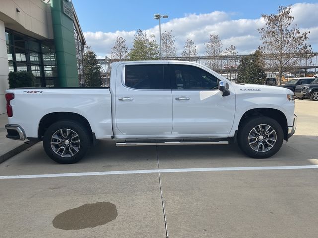
[[[33,87],[35,77],[31,72],[10,72],[8,80],[10,88],[24,88]]]

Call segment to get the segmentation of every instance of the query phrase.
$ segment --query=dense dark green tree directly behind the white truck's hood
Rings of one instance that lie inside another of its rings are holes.
[[[257,50],[249,56],[243,56],[238,66],[237,82],[264,84],[267,77],[264,67],[261,51]]]

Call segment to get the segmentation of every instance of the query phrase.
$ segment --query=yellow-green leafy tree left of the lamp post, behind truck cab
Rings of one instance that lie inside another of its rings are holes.
[[[148,38],[147,33],[137,30],[133,40],[133,47],[129,52],[129,60],[158,60],[159,45],[155,40],[155,36]]]

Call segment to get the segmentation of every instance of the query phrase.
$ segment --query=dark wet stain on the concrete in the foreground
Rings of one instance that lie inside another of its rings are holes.
[[[55,228],[79,230],[104,225],[117,217],[116,205],[110,202],[85,204],[57,215],[52,223]]]

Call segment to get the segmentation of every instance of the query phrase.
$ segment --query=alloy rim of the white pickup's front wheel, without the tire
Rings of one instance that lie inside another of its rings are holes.
[[[269,151],[274,147],[276,140],[276,131],[265,124],[255,126],[248,135],[249,146],[257,152]]]

